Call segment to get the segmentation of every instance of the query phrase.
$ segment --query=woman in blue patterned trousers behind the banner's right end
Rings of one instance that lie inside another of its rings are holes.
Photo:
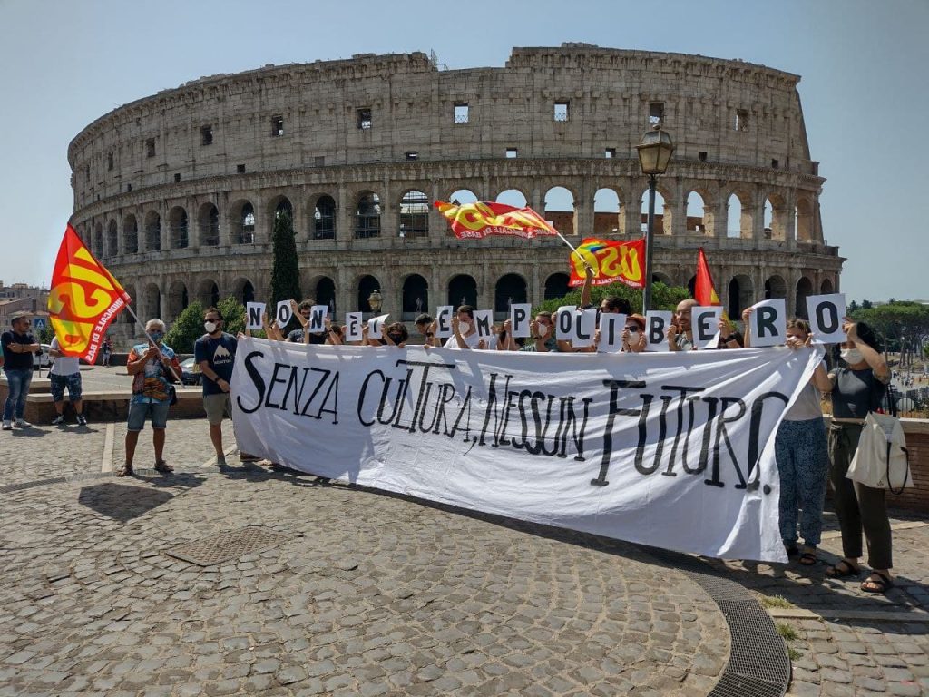
[[[742,311],[746,349],[752,346],[752,312],[753,308]],[[800,319],[787,321],[786,346],[800,349],[809,346],[811,339],[808,322]],[[822,537],[822,508],[829,477],[829,449],[819,401],[820,390],[828,392],[830,389],[825,364],[820,362],[803,391],[784,414],[774,441],[780,478],[780,539],[787,550],[787,556],[799,555],[797,560],[804,566],[817,563],[817,546]],[[797,547],[797,506],[803,508],[803,514],[799,516],[803,548]]]

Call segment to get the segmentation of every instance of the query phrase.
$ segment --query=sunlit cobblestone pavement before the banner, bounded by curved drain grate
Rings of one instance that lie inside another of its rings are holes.
[[[101,475],[124,433],[0,437],[0,695],[700,695],[725,667],[713,600],[635,546],[220,472],[202,420],[170,423],[173,477]],[[243,529],[275,539],[167,554]]]

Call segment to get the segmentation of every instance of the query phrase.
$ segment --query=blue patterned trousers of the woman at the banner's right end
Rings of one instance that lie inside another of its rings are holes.
[[[822,506],[829,474],[826,426],[821,418],[781,421],[774,441],[780,475],[780,537],[787,546],[797,542],[797,507],[803,507],[800,535],[817,546],[822,534]]]

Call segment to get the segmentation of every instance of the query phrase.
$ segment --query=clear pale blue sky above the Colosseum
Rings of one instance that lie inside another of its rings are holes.
[[[513,46],[743,59],[802,76],[823,229],[849,298],[929,299],[929,2],[0,0],[0,280],[48,283],[72,212],[68,143],[111,109],[216,72],[433,49],[450,68]]]

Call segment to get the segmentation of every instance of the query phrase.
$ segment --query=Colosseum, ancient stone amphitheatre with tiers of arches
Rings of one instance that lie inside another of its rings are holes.
[[[138,99],[72,140],[72,225],[140,317],[191,299],[266,299],[271,230],[294,221],[307,296],[410,320],[463,300],[563,295],[556,238],[458,241],[436,200],[529,204],[568,239],[642,234],[635,145],[661,120],[654,276],[693,282],[703,246],[730,314],[764,297],[803,314],[839,288],[823,240],[798,75],[740,60],[565,44],[503,68],[424,53],[268,65]],[[662,205],[663,204],[663,205]],[[125,313],[113,332],[135,334]]]

